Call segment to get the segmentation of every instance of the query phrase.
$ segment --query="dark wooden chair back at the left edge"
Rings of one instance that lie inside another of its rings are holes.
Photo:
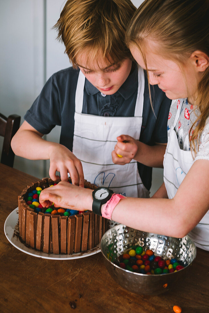
[[[0,113],[0,136],[4,137],[1,163],[13,167],[14,152],[11,148],[11,140],[18,131],[20,125],[20,116],[13,114],[7,118]]]

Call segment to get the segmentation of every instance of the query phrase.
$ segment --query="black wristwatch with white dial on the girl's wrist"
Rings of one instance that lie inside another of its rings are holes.
[[[99,187],[92,192],[93,203],[92,212],[101,215],[102,204],[106,203],[113,195],[113,191],[106,187]]]

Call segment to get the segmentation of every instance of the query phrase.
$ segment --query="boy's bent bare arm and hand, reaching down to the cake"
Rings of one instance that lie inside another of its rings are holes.
[[[56,171],[60,172],[62,180],[67,181],[70,173],[72,183],[84,187],[83,168],[80,160],[65,146],[42,139],[43,134],[36,131],[24,121],[13,136],[11,147],[14,153],[30,160],[50,159],[49,175],[56,180]]]

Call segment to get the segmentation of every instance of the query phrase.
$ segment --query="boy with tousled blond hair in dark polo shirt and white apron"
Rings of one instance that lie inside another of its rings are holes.
[[[17,155],[50,159],[53,180],[59,171],[82,187],[85,177],[126,196],[149,195],[151,167],[140,158],[123,167],[111,159],[121,134],[153,146],[157,161],[165,146],[156,143],[167,142],[170,100],[155,86],[153,113],[146,75],[125,44],[135,10],[130,0],[68,0],[61,12],[55,28],[73,66],[51,76],[12,140]],[[55,125],[60,144],[41,138]]]

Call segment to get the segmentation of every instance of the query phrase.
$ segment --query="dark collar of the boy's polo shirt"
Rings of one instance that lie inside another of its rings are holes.
[[[137,78],[137,66],[135,69],[129,74],[126,81],[119,88],[119,90],[115,93],[119,93],[125,100],[129,99],[131,95],[138,88],[138,78]],[[95,95],[100,92],[96,87],[94,87],[87,79],[85,80],[85,89],[88,95]]]

